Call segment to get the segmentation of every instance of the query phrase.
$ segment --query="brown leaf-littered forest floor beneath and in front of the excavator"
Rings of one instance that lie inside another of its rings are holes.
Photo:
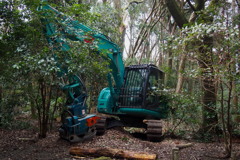
[[[36,138],[33,138],[36,137]],[[33,138],[28,140],[26,138]],[[240,139],[235,139],[233,151],[240,159]],[[49,133],[47,138],[38,139],[36,133],[29,130],[0,129],[1,160],[74,160],[69,154],[72,146],[83,148],[110,147],[136,152],[155,153],[159,160],[170,160],[172,148],[177,144],[193,143],[193,146],[180,151],[181,160],[217,160],[223,156],[223,143],[199,143],[180,139],[164,139],[161,142],[148,142],[144,136],[137,138],[122,129],[108,130],[103,136],[92,140],[70,144],[58,136],[58,132]],[[79,158],[79,157],[78,157]],[[81,157],[80,159],[94,159]]]

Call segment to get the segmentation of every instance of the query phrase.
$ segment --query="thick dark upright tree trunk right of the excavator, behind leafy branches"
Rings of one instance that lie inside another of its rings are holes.
[[[203,90],[203,123],[202,129],[206,133],[211,129],[215,129],[218,123],[217,113],[216,113],[216,85],[214,80],[214,71],[212,68],[212,37],[205,36],[203,38],[202,47],[199,48],[199,67],[202,70],[202,90]],[[212,130],[213,131],[213,130]]]

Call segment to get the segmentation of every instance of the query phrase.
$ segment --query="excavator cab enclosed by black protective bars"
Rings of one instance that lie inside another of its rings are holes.
[[[144,114],[151,117],[149,112],[145,112],[146,110],[158,112],[161,105],[159,92],[163,89],[163,78],[163,72],[152,64],[126,67],[124,84],[119,96],[120,110],[144,109],[142,113],[135,112],[142,117]]]

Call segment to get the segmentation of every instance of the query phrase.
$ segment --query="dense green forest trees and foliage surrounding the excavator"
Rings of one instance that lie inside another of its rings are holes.
[[[0,2],[0,126],[28,127],[14,118],[29,114],[38,119],[45,137],[65,103],[59,86],[66,80],[57,74],[58,64],[84,79],[93,113],[110,69],[104,56],[95,54],[89,44],[69,40],[72,48],[67,61],[65,53],[53,50],[43,33],[43,14],[37,9],[41,3]],[[110,37],[121,47],[125,66],[153,63],[165,72],[162,93],[171,111],[168,134],[221,133],[231,154],[231,137],[240,133],[239,121],[235,121],[240,114],[239,0],[48,3]]]

